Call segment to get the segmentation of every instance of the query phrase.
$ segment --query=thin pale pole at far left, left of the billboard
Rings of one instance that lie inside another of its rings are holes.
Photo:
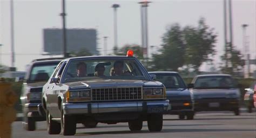
[[[11,67],[15,67],[15,50],[14,50],[14,1],[10,1],[11,13]]]

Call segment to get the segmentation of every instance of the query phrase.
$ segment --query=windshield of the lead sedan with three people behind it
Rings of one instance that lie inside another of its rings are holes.
[[[70,60],[63,74],[64,82],[93,79],[150,80],[134,59]]]

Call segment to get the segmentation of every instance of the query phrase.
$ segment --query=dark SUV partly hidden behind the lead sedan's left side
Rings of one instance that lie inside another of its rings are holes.
[[[42,88],[62,59],[35,59],[29,64],[21,94],[23,124],[26,130],[35,130],[36,121],[45,120],[37,109],[41,103]]]

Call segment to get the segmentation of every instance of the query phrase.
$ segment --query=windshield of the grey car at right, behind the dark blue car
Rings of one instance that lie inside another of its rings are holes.
[[[198,77],[194,83],[197,89],[235,88],[237,85],[230,76],[204,76]]]

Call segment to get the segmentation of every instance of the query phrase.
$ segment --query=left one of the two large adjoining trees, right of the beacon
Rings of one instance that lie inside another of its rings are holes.
[[[153,54],[152,64],[155,70],[178,71],[185,63],[185,45],[179,24],[173,24],[166,29],[162,37],[161,54]]]

